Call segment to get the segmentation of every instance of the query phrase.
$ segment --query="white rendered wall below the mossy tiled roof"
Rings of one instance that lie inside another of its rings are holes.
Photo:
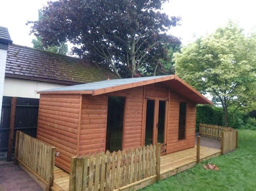
[[[52,88],[60,88],[69,85],[56,84],[49,82],[38,82],[33,80],[22,80],[14,78],[5,78],[3,87],[3,96],[38,98],[40,94],[37,91]],[[1,101],[2,104],[2,101]]]

